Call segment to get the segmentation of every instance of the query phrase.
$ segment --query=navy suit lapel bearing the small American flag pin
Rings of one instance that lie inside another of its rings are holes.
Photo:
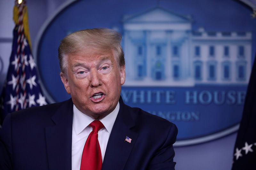
[[[124,169],[126,161],[136,142],[138,133],[135,131],[135,118],[129,112],[131,109],[119,100],[120,109],[108,139],[102,170]],[[132,139],[131,143],[125,141],[126,136]]]

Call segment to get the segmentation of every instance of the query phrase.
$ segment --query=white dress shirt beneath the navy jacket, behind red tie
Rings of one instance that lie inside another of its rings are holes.
[[[116,120],[117,113],[119,111],[119,102],[113,112],[101,119],[101,123],[104,128],[98,132],[98,140],[100,143],[100,151],[102,156],[102,162],[104,159],[105,151],[108,144],[108,138]],[[72,170],[80,170],[82,153],[84,144],[89,134],[92,131],[92,127],[89,124],[94,120],[92,117],[79,111],[75,105],[73,105],[73,128],[72,128]]]

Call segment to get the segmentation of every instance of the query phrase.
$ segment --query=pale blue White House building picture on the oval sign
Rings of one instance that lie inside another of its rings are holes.
[[[247,84],[251,32],[192,30],[192,19],[156,7],[124,16],[127,86]]]

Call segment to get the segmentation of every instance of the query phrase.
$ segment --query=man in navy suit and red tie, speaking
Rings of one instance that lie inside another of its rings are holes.
[[[107,28],[77,31],[61,41],[60,77],[71,99],[6,116],[0,169],[174,169],[176,126],[120,97],[120,42],[121,35]],[[93,122],[100,122],[100,130]]]

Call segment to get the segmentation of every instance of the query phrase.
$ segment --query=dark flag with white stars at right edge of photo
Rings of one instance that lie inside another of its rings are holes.
[[[255,55],[256,58],[256,55]],[[256,60],[244,101],[244,111],[234,147],[232,170],[256,169]]]

